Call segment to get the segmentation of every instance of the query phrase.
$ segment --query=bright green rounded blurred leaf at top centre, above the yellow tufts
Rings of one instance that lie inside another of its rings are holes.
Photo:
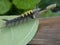
[[[40,0],[13,0],[13,3],[19,9],[33,9]]]

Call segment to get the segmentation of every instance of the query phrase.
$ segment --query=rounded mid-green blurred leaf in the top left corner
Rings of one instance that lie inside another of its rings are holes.
[[[0,14],[6,13],[11,7],[11,3],[8,0],[0,0]]]

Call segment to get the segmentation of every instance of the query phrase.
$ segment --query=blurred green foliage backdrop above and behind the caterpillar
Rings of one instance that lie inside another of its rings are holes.
[[[54,3],[57,4],[59,9],[56,8],[52,11],[60,10],[60,0],[0,0],[0,15],[20,15],[27,10],[37,7],[44,9],[46,6]],[[49,14],[54,13],[52,11],[48,11]]]

